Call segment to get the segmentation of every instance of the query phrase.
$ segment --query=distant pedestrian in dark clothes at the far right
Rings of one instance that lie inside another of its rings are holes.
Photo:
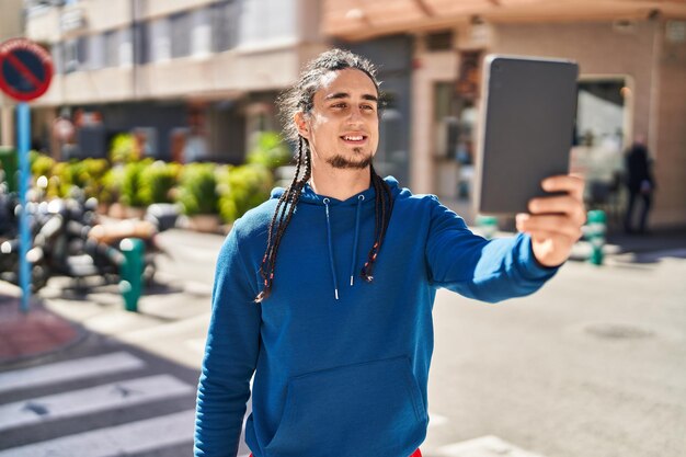
[[[655,182],[652,175],[651,161],[644,136],[637,136],[633,145],[627,150],[626,165],[629,202],[625,215],[625,232],[633,233],[637,231],[633,225],[633,212],[640,199],[642,207],[638,232],[645,233],[648,230],[648,214],[652,204]]]

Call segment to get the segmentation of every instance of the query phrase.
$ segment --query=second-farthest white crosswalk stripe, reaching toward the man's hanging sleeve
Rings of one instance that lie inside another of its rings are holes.
[[[0,432],[55,419],[178,397],[193,391],[194,388],[173,376],[156,375],[18,401],[0,407]]]

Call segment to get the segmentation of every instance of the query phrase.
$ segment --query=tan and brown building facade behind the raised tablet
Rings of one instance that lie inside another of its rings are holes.
[[[409,184],[471,198],[487,54],[580,65],[572,169],[619,219],[624,150],[644,135],[658,191],[653,226],[686,225],[686,4],[576,0],[324,2],[324,35],[348,46],[410,36]],[[378,61],[384,66],[384,59]]]

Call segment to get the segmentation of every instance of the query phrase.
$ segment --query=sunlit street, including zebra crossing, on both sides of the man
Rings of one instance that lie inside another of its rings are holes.
[[[87,336],[0,366],[0,457],[190,455],[221,240],[163,233],[172,258],[139,313],[114,286],[79,298],[52,283],[46,308]],[[685,256],[569,262],[499,305],[441,290],[424,456],[686,456]]]

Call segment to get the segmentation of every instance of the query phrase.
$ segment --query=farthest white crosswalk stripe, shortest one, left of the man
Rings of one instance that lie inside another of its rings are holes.
[[[111,373],[127,372],[145,366],[144,361],[127,352],[114,352],[105,355],[18,369],[15,372],[0,373],[0,393],[16,389],[49,386]]]

